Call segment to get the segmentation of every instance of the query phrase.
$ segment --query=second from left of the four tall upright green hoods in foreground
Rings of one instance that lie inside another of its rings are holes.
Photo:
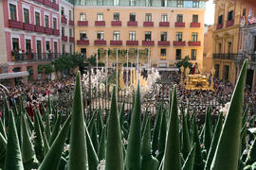
[[[123,170],[122,142],[115,87],[113,88],[108,121],[105,170]]]

